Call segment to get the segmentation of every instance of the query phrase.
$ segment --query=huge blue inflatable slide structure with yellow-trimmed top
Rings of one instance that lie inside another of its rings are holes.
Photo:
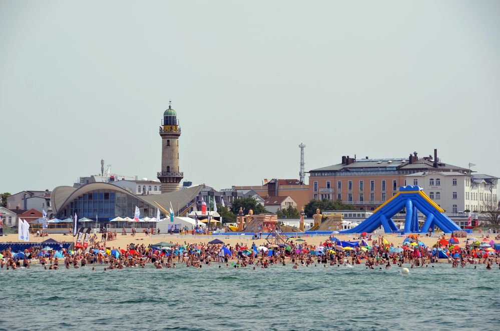
[[[348,230],[342,230],[340,233],[373,232],[380,225],[384,228],[386,233],[400,232],[392,220],[392,216],[404,207],[406,207],[404,233],[427,233],[429,228],[433,228],[434,226],[439,227],[446,233],[461,230],[455,222],[446,216],[444,210],[423,192],[422,187],[407,185],[399,187],[399,191],[396,195],[375,209],[373,214],[361,222],[361,224]],[[418,225],[417,210],[426,216],[421,229],[419,229]]]

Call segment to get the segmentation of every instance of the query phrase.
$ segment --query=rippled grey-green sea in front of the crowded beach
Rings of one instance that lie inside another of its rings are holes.
[[[0,269],[2,330],[497,330],[500,270]],[[408,265],[409,266],[409,265]]]

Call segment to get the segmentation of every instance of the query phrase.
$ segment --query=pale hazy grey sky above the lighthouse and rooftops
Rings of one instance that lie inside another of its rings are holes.
[[[0,0],[0,192],[156,179],[217,189],[433,154],[500,176],[500,1]],[[307,181],[307,176],[306,176]]]

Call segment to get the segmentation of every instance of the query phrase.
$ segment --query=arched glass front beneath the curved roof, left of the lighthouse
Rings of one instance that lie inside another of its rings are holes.
[[[156,217],[156,207],[139,200],[129,194],[112,190],[98,190],[80,195],[66,208],[58,212],[58,217],[71,217],[75,212],[79,217],[109,220],[117,216],[134,217],[136,206],[141,210],[142,217]]]

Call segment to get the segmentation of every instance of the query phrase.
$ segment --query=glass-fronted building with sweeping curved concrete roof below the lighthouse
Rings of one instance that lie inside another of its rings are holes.
[[[172,204],[174,212],[178,213],[196,199],[201,188],[198,185],[169,193],[135,195],[113,184],[95,182],[79,188],[58,186],[52,190],[51,203],[54,215],[61,219],[75,212],[79,217],[103,221],[118,216],[133,218],[136,206],[141,210],[141,217],[156,217],[155,202],[167,210]]]

